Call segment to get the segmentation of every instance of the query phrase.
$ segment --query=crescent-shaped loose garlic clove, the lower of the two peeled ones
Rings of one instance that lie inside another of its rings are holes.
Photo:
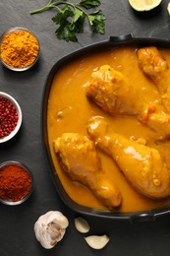
[[[110,238],[104,235],[89,235],[85,237],[86,243],[93,249],[102,249],[108,242]]]

